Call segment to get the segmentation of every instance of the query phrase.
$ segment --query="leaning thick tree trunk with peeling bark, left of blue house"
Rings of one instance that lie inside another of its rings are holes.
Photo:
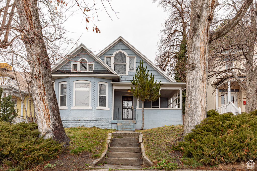
[[[42,34],[37,0],[15,0],[22,41],[31,68],[32,97],[38,129],[44,138],[53,138],[65,146],[69,144],[63,128],[51,76],[51,64]]]

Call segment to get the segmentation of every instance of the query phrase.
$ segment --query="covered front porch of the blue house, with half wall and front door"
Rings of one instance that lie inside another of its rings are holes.
[[[184,85],[184,84],[183,84]],[[130,86],[113,86],[112,128],[118,130],[141,129],[142,104],[130,92]],[[144,129],[164,125],[182,124],[182,87],[164,84],[160,98],[154,102],[144,102]]]

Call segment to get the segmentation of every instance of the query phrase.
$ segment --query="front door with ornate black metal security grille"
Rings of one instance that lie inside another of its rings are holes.
[[[133,120],[133,96],[122,96],[122,120]]]

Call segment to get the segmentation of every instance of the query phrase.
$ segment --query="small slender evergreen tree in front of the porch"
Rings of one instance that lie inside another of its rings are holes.
[[[157,81],[154,82],[154,75],[149,74],[149,70],[146,72],[147,66],[144,67],[143,61],[140,61],[138,68],[136,69],[135,76],[131,83],[135,86],[135,89],[131,86],[131,92],[133,96],[139,100],[142,104],[142,126],[141,129],[144,129],[144,102],[145,101],[155,101],[159,99],[160,94],[159,90],[161,87],[161,81],[157,84]]]

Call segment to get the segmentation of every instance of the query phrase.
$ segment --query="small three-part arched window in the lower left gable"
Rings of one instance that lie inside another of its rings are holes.
[[[78,62],[71,63],[72,72],[93,72],[94,71],[93,62],[88,62],[86,58],[80,58]]]

